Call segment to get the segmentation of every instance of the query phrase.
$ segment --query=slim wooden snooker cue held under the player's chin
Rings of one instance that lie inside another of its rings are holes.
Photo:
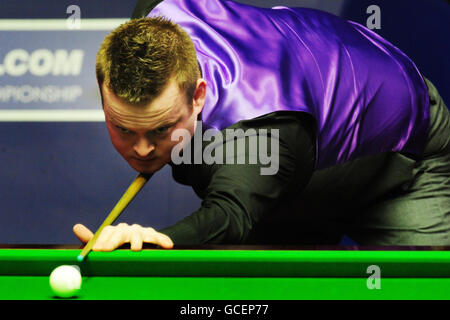
[[[106,217],[105,221],[103,221],[100,228],[98,228],[97,232],[95,232],[94,236],[91,238],[91,240],[88,241],[88,243],[84,246],[81,253],[78,255],[77,260],[79,262],[82,262],[84,260],[84,258],[88,255],[88,253],[92,250],[92,247],[94,246],[95,241],[97,241],[97,238],[99,237],[103,228],[114,223],[114,221],[125,210],[125,208],[131,202],[131,200],[133,200],[133,198],[139,193],[139,191],[147,183],[148,179],[150,179],[151,176],[152,176],[152,174],[140,173],[136,177],[136,179],[134,179],[134,181],[131,183],[131,185],[128,187],[128,189],[125,191],[123,196],[119,199],[117,204],[114,206],[114,208],[111,210],[109,215]]]

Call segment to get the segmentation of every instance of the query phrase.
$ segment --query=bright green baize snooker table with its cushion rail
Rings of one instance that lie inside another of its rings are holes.
[[[63,264],[81,269],[74,299],[450,299],[446,248],[118,249],[91,252],[78,263],[80,252],[76,246],[1,246],[0,299],[55,299],[49,275]]]

